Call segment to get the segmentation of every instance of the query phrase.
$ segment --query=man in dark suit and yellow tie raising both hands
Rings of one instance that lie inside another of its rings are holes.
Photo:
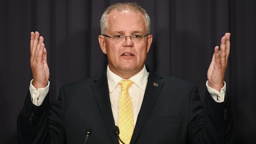
[[[82,144],[87,126],[93,129],[88,144],[120,142],[113,126],[119,126],[126,144],[230,143],[231,108],[223,81],[230,33],[221,39],[220,51],[215,47],[203,107],[197,87],[146,68],[152,35],[142,7],[114,4],[100,25],[98,40],[108,56],[107,70],[62,87],[50,111],[46,49],[43,37],[31,33],[33,80],[18,117],[20,143]]]

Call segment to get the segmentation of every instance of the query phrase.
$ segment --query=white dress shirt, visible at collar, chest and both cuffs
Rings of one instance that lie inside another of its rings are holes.
[[[118,83],[119,81],[122,80],[122,78],[120,76],[117,76],[113,72],[111,72],[109,67],[107,68],[107,77],[108,77],[109,98],[111,102],[112,113],[115,120],[115,125],[118,126],[119,97],[121,93],[121,86]],[[148,72],[146,70],[145,65],[143,69],[138,74],[131,77],[130,80],[134,82],[129,89],[129,94],[132,98],[132,106],[134,110],[134,126],[135,126],[137,121],[137,116],[139,114],[139,110],[141,109],[141,104],[143,101],[143,97],[144,97],[144,93],[145,93],[147,81],[148,81]],[[50,82],[48,81],[48,85],[45,88],[35,89],[35,87],[32,85],[32,81],[33,79],[30,82],[30,94],[32,97],[31,99],[34,105],[39,106],[43,103],[43,100],[45,99],[45,96],[49,91]],[[224,96],[226,92],[225,82],[224,82],[224,87],[221,89],[221,92],[209,87],[208,81],[206,81],[206,87],[210,92],[213,100],[215,100],[215,102],[218,102],[218,103],[224,102]]]

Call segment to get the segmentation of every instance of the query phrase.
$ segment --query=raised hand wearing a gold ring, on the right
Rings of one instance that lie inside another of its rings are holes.
[[[214,54],[210,67],[207,72],[208,85],[218,91],[224,86],[224,76],[228,65],[228,56],[230,54],[230,33],[226,33],[221,38],[221,49],[215,46]]]

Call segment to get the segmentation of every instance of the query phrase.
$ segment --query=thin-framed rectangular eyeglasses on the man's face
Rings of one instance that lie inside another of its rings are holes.
[[[113,39],[113,43],[122,43],[126,40],[126,37],[130,37],[130,39],[133,42],[139,43],[139,42],[144,42],[145,41],[145,37],[148,36],[148,34],[134,34],[134,35],[130,35],[130,36],[125,36],[125,35],[103,35],[104,37],[109,37]]]

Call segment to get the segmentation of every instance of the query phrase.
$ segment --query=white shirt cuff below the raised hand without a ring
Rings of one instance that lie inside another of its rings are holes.
[[[34,105],[40,106],[45,100],[45,97],[49,91],[50,81],[48,81],[48,85],[46,87],[39,88],[39,89],[36,89],[32,85],[32,82],[33,82],[33,79],[30,81],[30,87],[29,87],[31,100]]]

